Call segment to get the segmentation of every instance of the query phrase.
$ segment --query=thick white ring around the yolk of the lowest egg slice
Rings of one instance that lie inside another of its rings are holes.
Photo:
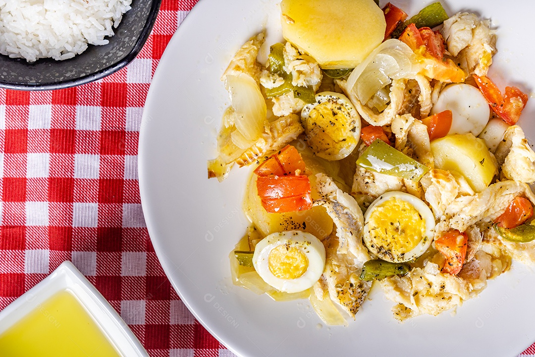
[[[268,259],[271,251],[281,245],[297,248],[308,259],[307,270],[295,279],[282,279],[271,272]],[[325,247],[310,233],[302,231],[276,232],[265,237],[255,247],[253,266],[258,275],[272,287],[287,293],[307,290],[323,274],[325,268]]]

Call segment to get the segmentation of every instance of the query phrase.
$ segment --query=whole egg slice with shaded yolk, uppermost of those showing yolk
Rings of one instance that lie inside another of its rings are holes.
[[[330,161],[351,154],[361,136],[361,117],[340,93],[316,94],[316,101],[301,111],[301,123],[314,154]]]

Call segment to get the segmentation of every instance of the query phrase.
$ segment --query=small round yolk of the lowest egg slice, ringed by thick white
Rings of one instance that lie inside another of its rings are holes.
[[[271,250],[268,266],[277,278],[295,279],[307,271],[308,258],[300,249],[283,244]]]

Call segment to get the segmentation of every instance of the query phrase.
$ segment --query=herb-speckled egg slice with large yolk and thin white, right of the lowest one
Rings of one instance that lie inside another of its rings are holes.
[[[408,193],[393,191],[379,196],[366,210],[364,222],[364,244],[388,262],[415,260],[433,241],[433,212]]]

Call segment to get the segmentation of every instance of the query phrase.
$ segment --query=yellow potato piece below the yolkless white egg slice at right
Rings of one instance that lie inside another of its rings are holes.
[[[433,140],[431,151],[436,169],[457,171],[475,192],[482,192],[498,173],[498,163],[485,141],[471,133]]]

